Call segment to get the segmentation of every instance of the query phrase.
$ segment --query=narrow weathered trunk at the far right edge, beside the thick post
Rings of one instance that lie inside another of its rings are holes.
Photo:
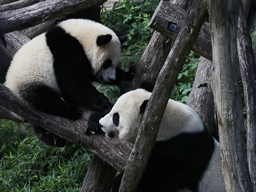
[[[247,159],[252,186],[256,191],[256,63],[252,53],[252,39],[246,28],[246,18],[241,8],[237,33],[238,58],[247,114]]]

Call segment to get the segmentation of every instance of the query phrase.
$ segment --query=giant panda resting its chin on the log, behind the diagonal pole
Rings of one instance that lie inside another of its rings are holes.
[[[140,88],[118,98],[99,121],[106,136],[134,143],[150,96]],[[118,191],[119,184],[120,176],[113,192]],[[194,110],[169,99],[138,192],[176,192],[184,188],[193,192],[226,191],[220,145]]]

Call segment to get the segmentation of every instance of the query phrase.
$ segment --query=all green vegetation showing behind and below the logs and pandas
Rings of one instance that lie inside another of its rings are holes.
[[[122,45],[120,66],[128,70],[137,64],[153,31],[148,27],[158,0],[128,1],[116,4],[112,11],[102,13],[102,23],[118,35],[128,35]],[[256,35],[252,34],[256,43]],[[171,98],[188,101],[200,56],[190,52],[179,74]],[[242,84],[242,83],[241,83]],[[98,85],[110,100],[119,96],[119,88]],[[246,118],[245,107],[244,116]],[[0,120],[0,191],[16,192],[79,192],[92,154],[84,148],[67,143],[64,148],[52,148],[32,134],[29,124]]]

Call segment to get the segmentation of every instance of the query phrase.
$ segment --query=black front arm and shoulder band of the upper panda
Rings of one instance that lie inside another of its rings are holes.
[[[78,40],[55,27],[46,33],[46,42],[54,57],[54,73],[61,94],[92,110],[110,108],[108,98],[91,84],[92,68]]]

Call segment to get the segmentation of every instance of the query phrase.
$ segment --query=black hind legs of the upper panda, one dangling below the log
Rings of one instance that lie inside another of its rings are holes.
[[[23,85],[20,88],[20,95],[34,108],[43,112],[62,116],[70,120],[76,120],[82,115],[80,108],[68,106],[56,91],[42,83],[34,82],[33,84]],[[65,146],[66,140],[39,125],[32,124],[32,126],[36,136],[44,143],[55,147]]]

